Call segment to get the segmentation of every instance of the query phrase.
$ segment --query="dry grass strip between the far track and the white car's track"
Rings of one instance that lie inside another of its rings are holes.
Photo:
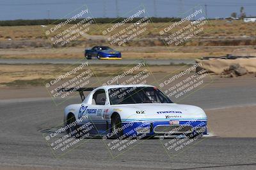
[[[76,65],[67,64],[0,64],[0,87],[28,87],[28,86],[44,86],[45,81],[52,80],[63,73],[72,70]],[[101,79],[109,76],[116,76],[117,74],[127,71],[133,66],[102,66],[92,65],[94,76],[93,79],[100,77]],[[173,71],[180,70],[181,66],[150,66],[144,67],[151,73],[173,73]],[[189,66],[182,66],[186,69]],[[142,71],[143,69],[140,69]],[[82,70],[84,71],[84,70]],[[134,74],[140,72],[137,71]],[[79,74],[79,73],[77,73]]]

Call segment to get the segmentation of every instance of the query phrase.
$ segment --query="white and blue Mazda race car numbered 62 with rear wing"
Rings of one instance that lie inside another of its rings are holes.
[[[65,129],[71,136],[86,133],[116,139],[141,134],[207,134],[204,110],[172,103],[152,85],[106,85],[76,90],[83,102],[67,106],[64,115]],[[84,97],[84,91],[91,92]]]

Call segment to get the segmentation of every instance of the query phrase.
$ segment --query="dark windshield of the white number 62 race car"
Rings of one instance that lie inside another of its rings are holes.
[[[110,104],[172,103],[156,87],[123,87],[109,89]]]

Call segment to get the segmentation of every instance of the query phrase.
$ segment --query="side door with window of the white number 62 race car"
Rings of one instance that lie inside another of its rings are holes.
[[[92,105],[90,105],[88,115],[95,129],[102,134],[108,129],[106,120],[103,119],[104,110],[107,109],[106,92],[104,89],[99,89],[94,92],[92,97]]]

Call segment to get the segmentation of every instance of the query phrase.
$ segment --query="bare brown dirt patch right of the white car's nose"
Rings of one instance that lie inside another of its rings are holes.
[[[205,110],[209,131],[222,138],[256,138],[256,105]]]

